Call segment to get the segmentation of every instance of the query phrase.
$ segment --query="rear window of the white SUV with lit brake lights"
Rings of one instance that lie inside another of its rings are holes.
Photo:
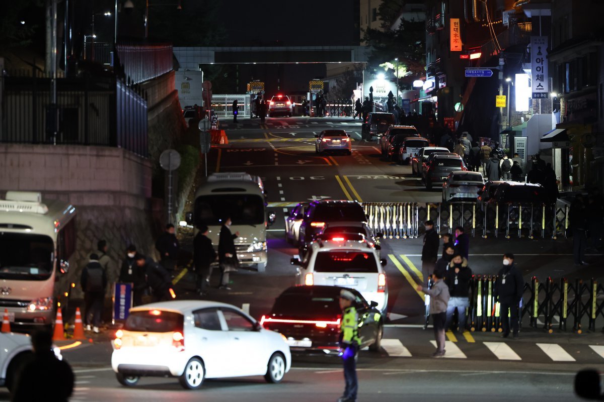
[[[319,251],[315,272],[376,272],[376,259],[371,253],[356,250]]]

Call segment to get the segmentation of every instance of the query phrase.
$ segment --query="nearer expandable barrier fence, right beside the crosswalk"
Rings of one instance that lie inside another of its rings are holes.
[[[471,331],[502,331],[500,304],[495,299],[496,280],[496,275],[474,275],[472,278],[467,311],[467,325]],[[588,282],[576,279],[574,283],[567,278],[547,278],[541,283],[533,277],[524,284],[519,324],[522,327],[523,322],[528,322],[529,327],[541,327],[548,333],[556,329],[567,331],[568,328],[582,333],[582,325],[587,322],[588,331],[596,331],[596,319],[604,318],[603,296],[604,286],[593,278]],[[426,307],[426,326],[428,314]]]

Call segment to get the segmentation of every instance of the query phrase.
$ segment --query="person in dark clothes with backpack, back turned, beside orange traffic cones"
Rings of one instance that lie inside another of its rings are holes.
[[[92,331],[98,333],[105,300],[105,288],[107,287],[107,274],[98,262],[97,254],[91,254],[88,265],[82,270],[80,285],[84,292],[86,331],[91,330],[92,323]]]

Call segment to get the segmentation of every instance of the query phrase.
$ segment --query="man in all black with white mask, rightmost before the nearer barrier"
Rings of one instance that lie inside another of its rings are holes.
[[[514,254],[506,253],[503,255],[503,268],[500,269],[495,281],[495,300],[500,303],[503,338],[507,338],[510,334],[510,321],[512,321],[514,338],[518,338],[518,307],[523,291],[524,280],[522,273],[514,265]]]

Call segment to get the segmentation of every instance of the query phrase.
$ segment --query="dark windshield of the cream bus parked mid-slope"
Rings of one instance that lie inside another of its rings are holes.
[[[195,221],[199,225],[220,225],[230,216],[234,225],[259,225],[265,222],[265,204],[255,194],[202,195],[195,201]]]

